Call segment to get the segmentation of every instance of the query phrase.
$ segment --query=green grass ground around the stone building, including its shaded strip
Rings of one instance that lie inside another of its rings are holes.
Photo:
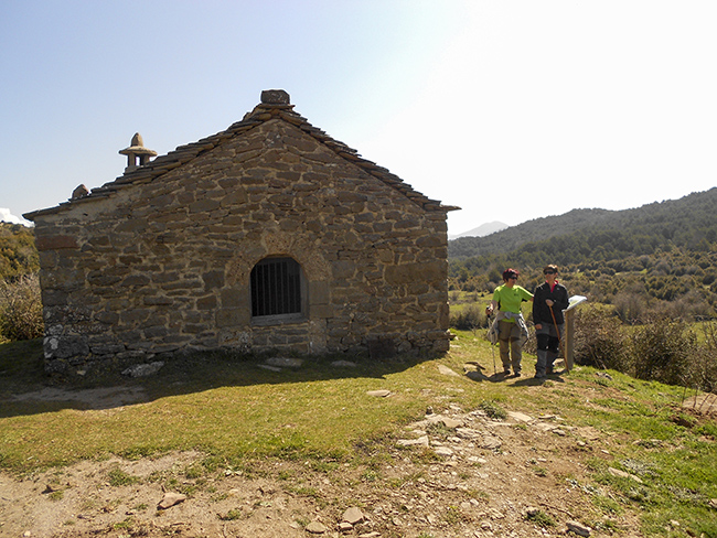
[[[225,466],[265,458],[357,464],[395,443],[396,431],[427,407],[490,404],[557,415],[614,440],[609,458],[585,463],[595,487],[611,492],[596,501],[606,514],[634,512],[645,536],[685,536],[688,529],[691,536],[717,537],[717,423],[715,413],[704,412],[710,410],[681,406],[694,394],[588,367],[544,387],[462,375],[471,364],[490,376],[493,353],[480,332],[458,332],[443,357],[364,359],[355,367],[332,365],[339,357],[307,358],[300,367],[275,372],[258,359],[203,354],[170,363],[153,377],[101,380],[143,395],[133,405],[101,408],[15,398],[56,381],[43,374],[39,341],[2,344],[0,469],[23,475],[113,454],[139,459],[188,450]],[[524,362],[532,375],[534,357]],[[447,376],[438,366],[459,375]],[[93,386],[97,383],[64,388]],[[366,397],[373,390],[393,396]],[[367,445],[377,450],[366,451]],[[611,467],[639,475],[641,483],[611,474]],[[679,521],[679,529],[670,521]]]

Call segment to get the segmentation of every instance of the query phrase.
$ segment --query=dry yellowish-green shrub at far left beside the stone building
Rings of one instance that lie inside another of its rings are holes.
[[[0,341],[32,340],[43,332],[38,275],[0,281]]]

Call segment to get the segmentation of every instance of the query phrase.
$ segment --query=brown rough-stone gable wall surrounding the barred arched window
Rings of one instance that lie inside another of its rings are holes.
[[[448,348],[446,212],[277,110],[161,175],[34,215],[49,369],[193,348]],[[252,319],[249,275],[269,256],[301,266],[298,320]]]

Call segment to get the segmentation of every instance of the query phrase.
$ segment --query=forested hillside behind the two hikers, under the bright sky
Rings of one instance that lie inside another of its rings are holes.
[[[635,209],[575,209],[456,239],[449,259],[454,290],[491,291],[509,266],[531,289],[543,266],[557,263],[571,293],[614,304],[624,319],[654,310],[714,316],[717,189]]]

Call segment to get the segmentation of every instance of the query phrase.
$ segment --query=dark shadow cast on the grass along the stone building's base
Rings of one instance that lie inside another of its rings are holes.
[[[243,355],[227,351],[193,352],[165,358],[151,376],[132,378],[119,372],[57,377],[45,373],[42,338],[0,344],[0,418],[63,409],[103,410],[221,387],[301,384],[331,379],[382,379],[436,358],[333,354],[295,357],[296,365],[269,364],[278,355]],[[287,355],[281,355],[287,357]],[[293,363],[287,359],[286,363]],[[275,363],[276,364],[276,363]],[[118,367],[117,370],[121,370]]]

